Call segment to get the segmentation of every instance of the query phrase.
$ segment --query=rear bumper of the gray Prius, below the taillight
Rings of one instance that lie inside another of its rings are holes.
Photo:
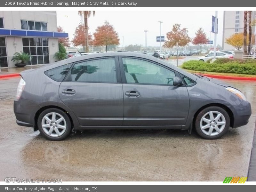
[[[34,127],[34,117],[40,106],[34,101],[19,99],[13,102],[16,123],[21,126]]]

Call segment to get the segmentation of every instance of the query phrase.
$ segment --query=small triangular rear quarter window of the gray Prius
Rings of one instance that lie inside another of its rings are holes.
[[[44,74],[47,75],[48,77],[50,77],[51,79],[53,79],[54,81],[63,81],[63,79],[67,75],[71,65],[72,64],[69,63],[66,65],[62,65],[60,67],[53,68],[48,71],[45,71]]]

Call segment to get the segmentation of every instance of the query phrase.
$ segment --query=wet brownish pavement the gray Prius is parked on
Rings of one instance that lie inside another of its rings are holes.
[[[193,130],[86,130],[46,140],[18,126],[13,100],[19,78],[0,80],[0,181],[223,181],[247,176],[256,117],[256,82],[227,80],[244,92],[252,116],[219,140]]]

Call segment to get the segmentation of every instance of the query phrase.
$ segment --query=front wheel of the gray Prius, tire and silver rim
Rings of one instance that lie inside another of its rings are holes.
[[[204,108],[196,116],[195,121],[196,132],[204,139],[221,138],[228,132],[229,125],[230,118],[227,111],[217,106]]]

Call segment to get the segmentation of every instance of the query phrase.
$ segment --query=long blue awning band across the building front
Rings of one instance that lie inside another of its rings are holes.
[[[0,29],[0,35],[3,35],[3,36],[28,36],[28,37],[52,37],[52,38],[68,37],[68,33],[48,32],[48,31],[31,31],[31,30],[14,30],[14,29]]]

